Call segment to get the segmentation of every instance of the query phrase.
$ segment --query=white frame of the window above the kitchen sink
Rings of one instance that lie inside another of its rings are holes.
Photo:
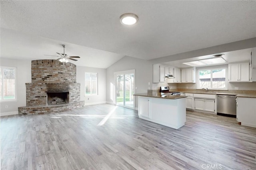
[[[212,70],[220,70],[220,69],[225,69],[225,88],[212,88]],[[210,67],[198,67],[196,69],[196,88],[197,89],[202,89],[204,87],[200,87],[200,80],[199,80],[199,72],[202,70],[211,70],[211,87],[208,88],[208,90],[228,90],[228,67],[227,66],[221,66],[221,67],[216,67],[216,66],[210,66]]]

